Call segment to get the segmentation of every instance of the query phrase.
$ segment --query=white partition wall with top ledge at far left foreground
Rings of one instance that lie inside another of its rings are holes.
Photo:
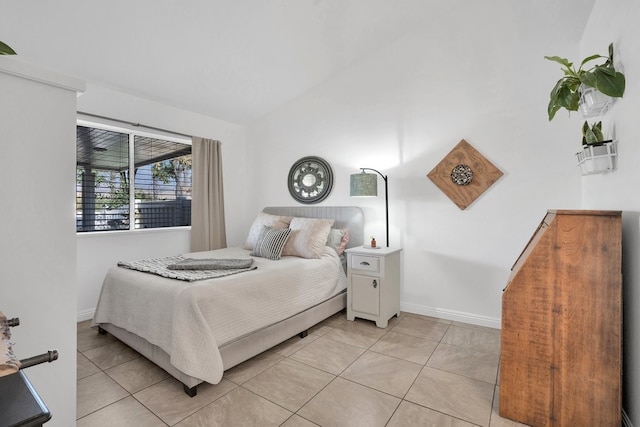
[[[76,417],[73,140],[83,87],[0,57],[0,310],[20,318],[11,328],[19,359],[59,352],[25,371],[58,426]]]

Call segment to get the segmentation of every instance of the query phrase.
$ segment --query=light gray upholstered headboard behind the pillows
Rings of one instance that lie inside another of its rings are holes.
[[[357,206],[268,206],[263,211],[271,215],[335,219],[333,228],[349,229],[348,248],[364,244],[364,214]]]

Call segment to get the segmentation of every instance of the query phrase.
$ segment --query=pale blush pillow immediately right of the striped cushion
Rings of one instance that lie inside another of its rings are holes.
[[[332,219],[293,218],[289,224],[291,236],[282,255],[320,258],[333,223]]]

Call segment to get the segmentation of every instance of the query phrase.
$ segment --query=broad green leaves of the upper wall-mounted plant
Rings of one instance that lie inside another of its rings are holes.
[[[585,65],[596,59],[606,58],[602,64],[594,65],[585,69]],[[578,69],[566,58],[559,56],[545,56],[549,61],[562,65],[564,76],[558,80],[550,93],[547,113],[549,120],[555,114],[565,108],[567,111],[578,111],[581,95],[583,92],[600,92],[612,98],[621,98],[625,89],[625,77],[616,71],[613,65],[613,43],[609,45],[609,56],[591,55],[580,63]]]

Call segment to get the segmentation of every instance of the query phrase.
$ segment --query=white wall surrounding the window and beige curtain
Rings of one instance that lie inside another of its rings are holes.
[[[254,214],[245,215],[248,182],[243,127],[95,84],[89,84],[78,100],[78,111],[222,141],[227,243],[237,245],[244,241],[246,222],[252,220],[247,218]],[[92,318],[104,275],[115,263],[189,252],[190,232],[190,227],[186,227],[79,234],[77,320]]]

